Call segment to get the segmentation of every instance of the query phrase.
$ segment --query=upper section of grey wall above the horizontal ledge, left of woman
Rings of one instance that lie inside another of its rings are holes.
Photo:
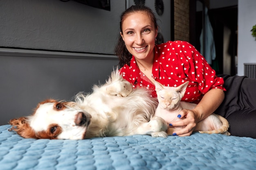
[[[124,0],[111,11],[75,1],[1,0],[0,46],[113,54]]]

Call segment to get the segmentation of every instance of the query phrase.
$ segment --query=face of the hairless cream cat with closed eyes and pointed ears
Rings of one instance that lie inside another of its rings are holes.
[[[186,82],[178,87],[166,87],[155,81],[155,91],[157,92],[159,106],[167,110],[177,109],[188,84],[189,82]]]

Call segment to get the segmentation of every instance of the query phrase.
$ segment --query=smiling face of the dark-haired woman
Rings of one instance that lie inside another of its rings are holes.
[[[157,29],[146,13],[128,15],[122,24],[124,43],[136,59],[153,59]]]

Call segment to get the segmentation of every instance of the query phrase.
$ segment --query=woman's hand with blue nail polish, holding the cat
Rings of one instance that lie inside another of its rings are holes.
[[[199,122],[199,118],[197,116],[197,113],[193,110],[187,110],[184,109],[180,111],[178,118],[180,118],[180,121],[172,122],[172,126],[186,126],[183,129],[173,131],[173,135],[179,135],[179,136],[189,136],[193,133],[195,126],[197,122]]]

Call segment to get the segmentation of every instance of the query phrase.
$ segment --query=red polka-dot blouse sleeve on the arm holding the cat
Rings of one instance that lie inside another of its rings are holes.
[[[198,83],[198,89],[202,94],[207,93],[210,89],[222,89],[224,81],[223,78],[216,75],[215,70],[207,63],[205,58],[195,49],[189,42],[184,42],[180,46],[180,50],[185,56],[184,72],[190,81]]]

